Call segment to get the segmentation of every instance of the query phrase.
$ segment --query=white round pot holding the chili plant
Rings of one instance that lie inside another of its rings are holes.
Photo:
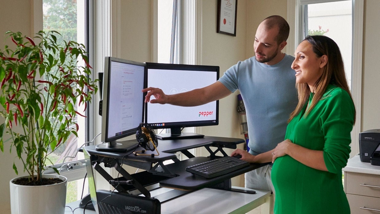
[[[28,177],[28,176],[22,176]],[[60,175],[43,174],[46,178],[59,177],[62,183],[43,186],[24,186],[9,182],[12,214],[63,214],[65,213],[67,178]]]

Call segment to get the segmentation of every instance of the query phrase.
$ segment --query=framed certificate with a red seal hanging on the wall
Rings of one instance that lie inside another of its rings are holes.
[[[218,0],[217,33],[236,37],[237,0]]]

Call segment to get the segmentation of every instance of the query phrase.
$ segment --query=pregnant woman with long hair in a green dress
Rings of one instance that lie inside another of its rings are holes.
[[[285,141],[260,155],[236,150],[243,160],[273,162],[274,212],[278,214],[350,213],[342,168],[350,154],[355,107],[336,43],[308,36],[296,49],[299,102],[291,113]]]

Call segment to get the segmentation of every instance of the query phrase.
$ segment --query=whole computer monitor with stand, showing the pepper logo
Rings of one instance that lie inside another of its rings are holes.
[[[165,94],[176,94],[215,83],[219,67],[211,65],[184,65],[146,62],[147,86],[160,88]],[[152,98],[154,99],[154,98]],[[170,133],[158,133],[157,138],[186,139],[204,135],[181,133],[185,127],[218,125],[219,101],[194,107],[147,103],[145,122],[154,129],[170,128]]]

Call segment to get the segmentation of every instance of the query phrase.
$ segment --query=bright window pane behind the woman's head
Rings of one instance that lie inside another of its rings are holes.
[[[339,1],[307,5],[308,34],[332,38],[340,48],[348,86],[351,86],[352,2]]]

